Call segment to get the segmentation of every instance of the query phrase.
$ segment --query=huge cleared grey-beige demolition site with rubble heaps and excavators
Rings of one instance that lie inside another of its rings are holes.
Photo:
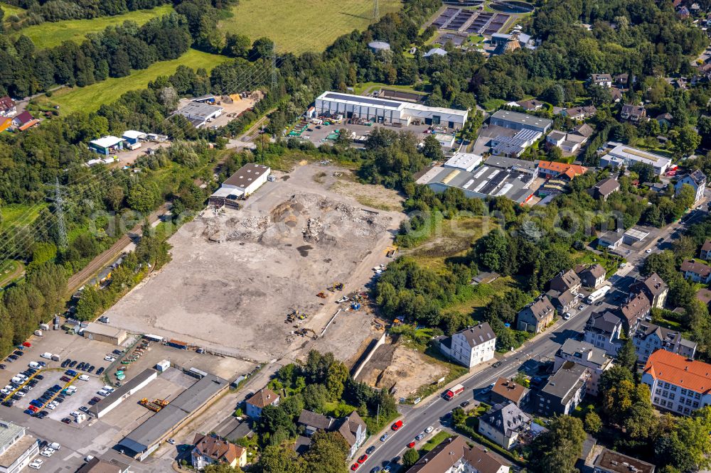
[[[173,261],[107,312],[111,325],[255,361],[295,355],[309,339],[353,357],[375,327],[348,295],[360,300],[405,216],[314,179],[337,172],[299,165],[240,210],[203,211],[171,237]]]

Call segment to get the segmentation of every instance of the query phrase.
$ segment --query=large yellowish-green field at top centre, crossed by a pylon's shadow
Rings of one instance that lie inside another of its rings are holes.
[[[380,16],[397,11],[400,0],[381,0]],[[373,0],[240,0],[220,28],[255,40],[268,36],[279,51],[322,51],[333,40],[372,22]]]

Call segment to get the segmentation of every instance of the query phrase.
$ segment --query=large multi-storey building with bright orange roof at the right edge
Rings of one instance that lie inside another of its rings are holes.
[[[652,404],[668,411],[690,415],[711,404],[711,364],[703,361],[657,350],[647,359],[642,382],[649,386]]]

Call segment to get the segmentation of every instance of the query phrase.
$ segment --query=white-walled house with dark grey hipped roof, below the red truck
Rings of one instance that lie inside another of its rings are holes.
[[[514,403],[496,404],[479,417],[479,433],[506,450],[530,433],[531,418]]]

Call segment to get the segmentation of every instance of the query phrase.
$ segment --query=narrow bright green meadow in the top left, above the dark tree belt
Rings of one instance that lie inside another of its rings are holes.
[[[87,34],[104,31],[107,26],[120,25],[124,21],[135,21],[142,25],[151,18],[163,16],[171,11],[173,11],[171,5],[161,5],[150,10],[129,11],[122,15],[102,16],[91,20],[48,21],[41,25],[23,28],[17,34],[28,36],[37,49],[52,48],[64,41],[80,43]]]

